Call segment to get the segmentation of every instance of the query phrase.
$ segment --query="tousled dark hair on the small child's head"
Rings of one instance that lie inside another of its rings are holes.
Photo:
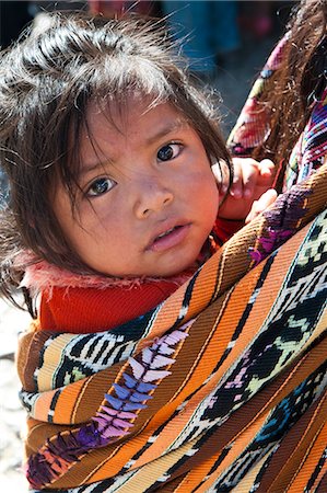
[[[51,205],[61,180],[74,205],[79,141],[86,106],[118,104],[128,94],[168,102],[198,133],[211,160],[230,156],[210,100],[189,80],[163,21],[46,14],[0,61],[0,163],[10,183],[1,214],[1,291],[11,297],[24,265],[20,253],[89,273],[68,244]],[[231,173],[230,173],[231,174]]]

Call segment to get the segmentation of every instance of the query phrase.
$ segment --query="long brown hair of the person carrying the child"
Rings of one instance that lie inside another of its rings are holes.
[[[327,81],[327,1],[302,0],[287,26],[288,42],[280,68],[271,77],[260,104],[268,110],[271,131],[254,158],[287,164],[307,122],[312,103],[319,100]],[[278,183],[281,187],[283,167]]]

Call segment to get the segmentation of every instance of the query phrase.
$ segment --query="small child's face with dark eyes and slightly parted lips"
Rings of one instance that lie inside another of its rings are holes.
[[[72,248],[113,276],[171,276],[190,266],[214,223],[219,193],[197,133],[168,103],[128,116],[87,112],[78,214],[63,185],[55,214]]]

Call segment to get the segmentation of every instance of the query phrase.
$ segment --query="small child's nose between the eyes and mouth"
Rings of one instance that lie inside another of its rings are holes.
[[[173,202],[173,193],[155,181],[144,181],[139,186],[136,200],[136,215],[139,219],[147,218],[152,213],[157,213]]]

